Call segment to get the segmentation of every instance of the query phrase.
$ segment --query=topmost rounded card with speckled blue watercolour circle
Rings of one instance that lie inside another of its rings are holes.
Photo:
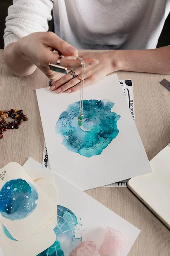
[[[14,239],[28,239],[55,213],[55,204],[20,164],[0,170],[0,221]]]

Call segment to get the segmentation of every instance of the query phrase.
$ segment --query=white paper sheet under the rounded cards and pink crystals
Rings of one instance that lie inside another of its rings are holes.
[[[29,158],[24,165],[25,168],[31,169],[30,161],[32,164],[35,160]],[[86,240],[93,241],[99,249],[104,239],[105,228],[108,226],[121,231],[125,236],[126,246],[119,256],[127,255],[140,233],[138,228],[56,174],[54,185],[57,187],[58,195],[58,223],[54,229],[57,239],[55,244],[40,256],[53,252],[60,255],[61,250],[68,256],[81,241]]]

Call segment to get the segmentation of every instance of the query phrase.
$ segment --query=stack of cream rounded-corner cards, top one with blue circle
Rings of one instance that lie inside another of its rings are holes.
[[[41,178],[43,176],[43,178]],[[57,195],[51,172],[9,163],[0,170],[0,245],[6,256],[36,256],[56,240]],[[0,256],[3,254],[0,254]]]

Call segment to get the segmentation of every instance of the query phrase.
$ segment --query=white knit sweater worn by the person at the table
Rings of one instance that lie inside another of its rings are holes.
[[[153,49],[170,12],[170,0],[13,0],[5,47],[33,32],[56,34],[78,49]]]

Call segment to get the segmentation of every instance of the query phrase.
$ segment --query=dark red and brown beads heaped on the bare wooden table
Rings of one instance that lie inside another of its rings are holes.
[[[6,118],[11,117],[14,119],[12,122],[6,122]],[[7,131],[7,129],[18,129],[19,125],[22,124],[23,121],[27,121],[28,118],[24,115],[23,110],[11,109],[9,111],[4,110],[0,111],[0,139],[3,138],[3,132]]]

